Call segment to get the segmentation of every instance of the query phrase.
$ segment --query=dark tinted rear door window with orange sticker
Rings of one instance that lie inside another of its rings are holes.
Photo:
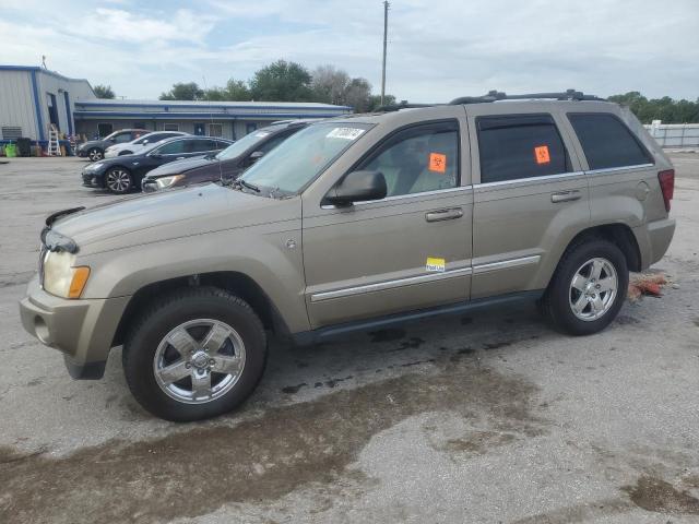
[[[544,177],[570,170],[570,162],[550,115],[476,119],[481,182]]]

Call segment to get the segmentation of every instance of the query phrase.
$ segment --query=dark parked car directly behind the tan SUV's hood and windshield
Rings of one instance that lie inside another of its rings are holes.
[[[233,180],[308,123],[291,121],[272,124],[247,134],[217,155],[169,163],[149,172],[141,187],[143,191],[152,192],[190,183]]]

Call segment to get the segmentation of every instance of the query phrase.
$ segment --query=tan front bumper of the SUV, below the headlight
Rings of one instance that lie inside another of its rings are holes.
[[[20,315],[31,335],[63,353],[71,377],[100,379],[129,299],[68,300],[46,293],[35,277],[20,301]]]

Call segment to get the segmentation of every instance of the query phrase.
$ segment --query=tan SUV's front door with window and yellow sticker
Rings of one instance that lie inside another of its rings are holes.
[[[455,119],[403,128],[354,168],[382,172],[386,199],[304,204],[313,329],[467,300],[473,194],[461,135]]]

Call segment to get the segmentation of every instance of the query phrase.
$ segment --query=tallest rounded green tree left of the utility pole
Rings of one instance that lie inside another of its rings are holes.
[[[312,99],[311,76],[306,68],[277,60],[258,70],[249,82],[254,100],[309,102]]]

